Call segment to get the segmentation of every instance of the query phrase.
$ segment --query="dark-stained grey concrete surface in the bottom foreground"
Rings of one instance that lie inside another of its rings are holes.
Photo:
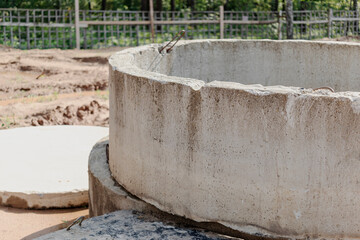
[[[174,226],[173,223],[163,223],[150,215],[123,210],[90,218],[85,220],[81,227],[75,225],[69,231],[64,229],[37,239],[225,240],[230,238],[204,232],[199,229]]]

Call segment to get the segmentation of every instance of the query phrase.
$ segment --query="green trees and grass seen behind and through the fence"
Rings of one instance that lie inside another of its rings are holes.
[[[79,0],[80,18],[88,21],[148,20],[149,0]],[[278,16],[276,11],[285,11],[289,0],[153,0],[157,20],[213,19],[219,17],[219,6],[225,6],[227,20],[274,21],[270,24],[225,24],[225,38],[278,39]],[[328,9],[334,17],[356,18],[357,0],[294,0],[294,20],[309,21],[328,19]],[[21,22],[26,19],[38,24],[73,24],[74,0],[0,0],[0,22]],[[26,11],[24,9],[32,9]],[[44,10],[53,9],[53,10]],[[118,11],[89,11],[89,10]],[[131,10],[131,11],[127,11]],[[139,10],[143,10],[140,12]],[[173,12],[169,12],[173,10]],[[296,11],[302,12],[296,12]],[[304,12],[311,10],[313,12]],[[314,11],[315,10],[315,11]],[[346,12],[340,12],[345,10]],[[243,12],[242,12],[243,11]],[[246,11],[246,12],[244,12]],[[271,12],[272,11],[272,12]],[[285,20],[285,19],[283,19]],[[332,22],[331,37],[358,35],[358,22]],[[181,30],[185,39],[219,38],[219,24],[156,25],[156,43],[170,40]],[[81,28],[81,48],[93,49],[109,46],[138,46],[152,42],[149,25],[89,25]],[[295,39],[318,39],[328,37],[326,23],[295,24]],[[286,38],[286,24],[282,24],[282,37]],[[72,26],[1,26],[0,44],[20,49],[61,48],[73,49],[75,28]]]

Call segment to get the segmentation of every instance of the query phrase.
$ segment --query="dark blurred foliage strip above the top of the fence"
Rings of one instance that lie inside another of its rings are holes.
[[[149,0],[79,0],[82,10],[143,10]],[[285,0],[154,0],[156,11],[217,10],[225,5],[230,11],[285,10]],[[294,10],[353,10],[357,0],[294,0]],[[73,9],[74,0],[0,0],[0,8]]]

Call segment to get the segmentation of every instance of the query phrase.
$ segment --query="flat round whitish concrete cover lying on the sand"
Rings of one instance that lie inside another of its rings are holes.
[[[26,127],[0,131],[0,204],[18,208],[88,203],[88,156],[109,129]]]

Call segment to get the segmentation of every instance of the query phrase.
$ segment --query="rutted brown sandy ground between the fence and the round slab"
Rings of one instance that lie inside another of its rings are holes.
[[[107,58],[119,50],[0,47],[0,129],[108,126]]]

